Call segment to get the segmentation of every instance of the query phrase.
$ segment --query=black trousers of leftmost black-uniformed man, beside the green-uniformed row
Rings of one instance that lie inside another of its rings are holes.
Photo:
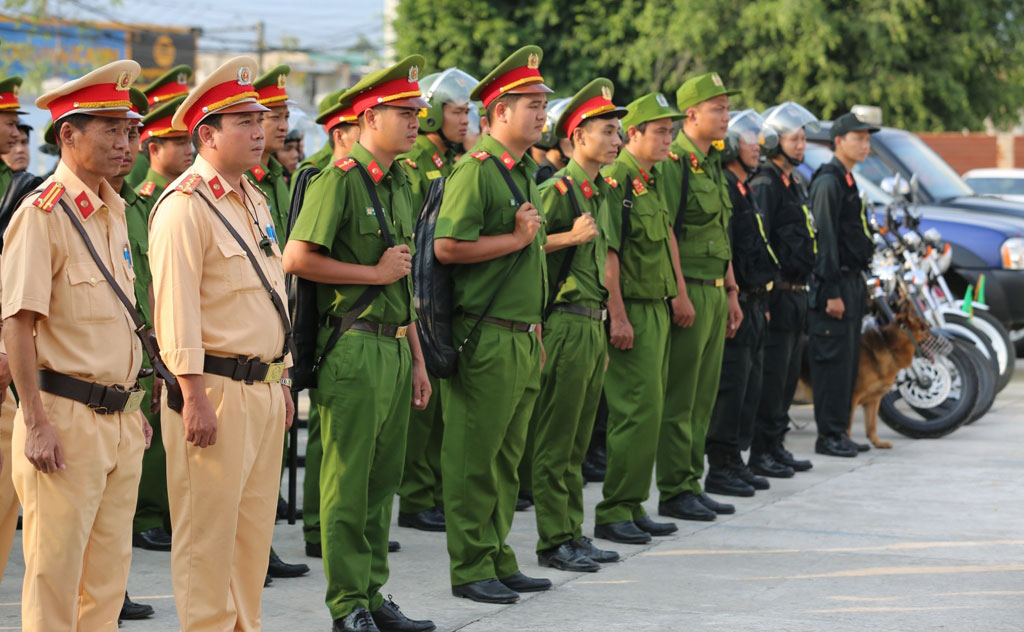
[[[762,297],[743,297],[739,306],[743,322],[736,336],[725,340],[722,378],[708,427],[705,452],[712,467],[725,465],[729,455],[738,455],[750,448],[761,399],[767,301]]]

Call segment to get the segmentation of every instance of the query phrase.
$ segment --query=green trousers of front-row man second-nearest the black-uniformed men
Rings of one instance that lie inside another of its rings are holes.
[[[626,300],[633,348],[608,345],[604,396],[608,403],[604,499],[596,521],[610,524],[647,514],[650,479],[669,370],[669,305],[665,299]]]

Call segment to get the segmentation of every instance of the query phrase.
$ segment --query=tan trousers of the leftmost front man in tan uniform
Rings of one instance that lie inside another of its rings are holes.
[[[25,508],[22,539],[25,632],[114,632],[131,566],[131,520],[142,472],[141,413],[98,415],[41,393],[67,469],[44,474],[25,456],[14,417],[14,489]]]

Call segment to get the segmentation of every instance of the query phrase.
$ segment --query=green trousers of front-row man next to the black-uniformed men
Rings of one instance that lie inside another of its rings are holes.
[[[669,388],[657,441],[662,502],[683,492],[702,492],[705,438],[722,376],[725,289],[690,283],[686,292],[696,318],[691,327],[673,325],[669,335]]]

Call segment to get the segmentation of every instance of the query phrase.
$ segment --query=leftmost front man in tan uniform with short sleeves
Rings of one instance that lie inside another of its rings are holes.
[[[114,282],[133,292],[124,202],[105,178],[129,150],[134,61],[115,61],[39,97],[61,149],[6,233],[4,337],[20,408],[13,478],[25,511],[24,630],[118,627],[131,518],[152,432],[136,386],[142,346]]]

